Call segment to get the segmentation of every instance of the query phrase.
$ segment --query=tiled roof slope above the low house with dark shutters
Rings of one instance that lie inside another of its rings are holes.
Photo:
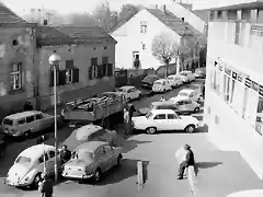
[[[99,26],[92,26],[92,27],[61,26],[61,27],[58,27],[58,30],[73,38],[80,38],[80,39],[112,38],[113,39],[113,37],[110,34],[107,34],[104,30],[102,30]]]

